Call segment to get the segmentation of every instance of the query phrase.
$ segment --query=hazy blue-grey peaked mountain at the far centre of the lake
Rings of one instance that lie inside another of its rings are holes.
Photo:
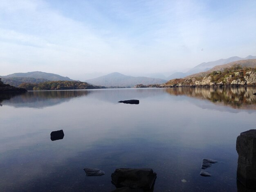
[[[98,78],[86,80],[86,82],[91,83],[93,85],[101,85],[106,87],[134,87],[137,84],[162,84],[165,83],[166,80],[149,77],[132,77],[115,72]]]

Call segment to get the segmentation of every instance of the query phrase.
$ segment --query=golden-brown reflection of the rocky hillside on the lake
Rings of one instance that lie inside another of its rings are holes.
[[[256,110],[256,87],[239,88],[189,88],[178,87],[165,89],[171,95],[186,95],[204,100],[210,100],[217,105],[228,105],[238,109]]]

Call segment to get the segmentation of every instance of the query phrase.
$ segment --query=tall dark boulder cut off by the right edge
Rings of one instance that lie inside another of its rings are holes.
[[[236,178],[247,188],[256,189],[256,129],[242,132],[236,139]]]

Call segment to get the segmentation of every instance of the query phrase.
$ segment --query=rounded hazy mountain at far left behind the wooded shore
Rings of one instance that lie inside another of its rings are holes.
[[[63,77],[57,74],[52,73],[45,73],[41,71],[33,71],[27,73],[14,73],[7,76],[2,76],[2,78],[12,78],[12,77],[30,77],[30,78],[40,78],[40,79],[47,79],[47,80],[70,80],[74,81],[68,77]]]

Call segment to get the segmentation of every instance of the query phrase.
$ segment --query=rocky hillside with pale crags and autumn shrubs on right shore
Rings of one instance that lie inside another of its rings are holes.
[[[256,85],[256,67],[232,65],[219,71],[207,71],[205,76],[169,80],[160,87],[239,87]]]

